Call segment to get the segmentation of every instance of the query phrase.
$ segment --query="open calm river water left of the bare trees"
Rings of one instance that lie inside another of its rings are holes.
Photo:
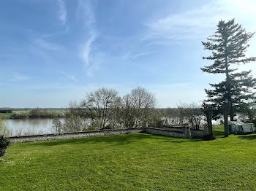
[[[64,118],[59,120],[64,122]],[[4,120],[4,124],[12,132],[12,136],[53,133],[52,118]]]

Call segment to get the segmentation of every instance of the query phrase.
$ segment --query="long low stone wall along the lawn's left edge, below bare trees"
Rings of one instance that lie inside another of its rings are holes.
[[[61,133],[61,134],[44,134],[34,136],[12,136],[11,143],[23,143],[33,141],[50,141],[58,139],[76,139],[92,136],[112,136],[119,134],[143,133],[143,128],[126,128],[126,129],[108,129],[108,130],[87,130],[83,132]]]

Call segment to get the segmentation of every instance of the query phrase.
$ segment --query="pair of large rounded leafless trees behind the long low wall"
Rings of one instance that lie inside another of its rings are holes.
[[[53,130],[61,133],[105,128],[135,128],[140,126],[143,120],[157,123],[159,115],[153,114],[152,110],[155,105],[154,95],[142,87],[133,89],[123,97],[118,96],[116,90],[103,87],[87,94],[80,104],[70,103],[69,117],[65,118],[64,124],[54,120]]]

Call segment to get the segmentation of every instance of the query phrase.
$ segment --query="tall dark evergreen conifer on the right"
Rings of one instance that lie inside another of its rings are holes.
[[[206,102],[215,106],[218,112],[222,112],[225,103],[230,106],[230,120],[233,120],[241,106],[249,106],[255,100],[256,79],[251,71],[238,72],[234,67],[241,63],[256,61],[255,57],[246,58],[248,41],[254,33],[247,33],[241,25],[235,23],[235,19],[227,23],[220,20],[217,31],[208,38],[208,42],[202,42],[205,50],[211,50],[212,55],[203,59],[214,61],[211,66],[205,66],[202,71],[211,74],[225,74],[225,79],[217,84],[210,84],[212,90],[206,90],[208,99]]]

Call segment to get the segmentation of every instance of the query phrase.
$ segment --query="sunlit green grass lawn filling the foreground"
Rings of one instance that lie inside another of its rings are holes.
[[[12,144],[0,190],[256,190],[256,135],[148,134]]]

